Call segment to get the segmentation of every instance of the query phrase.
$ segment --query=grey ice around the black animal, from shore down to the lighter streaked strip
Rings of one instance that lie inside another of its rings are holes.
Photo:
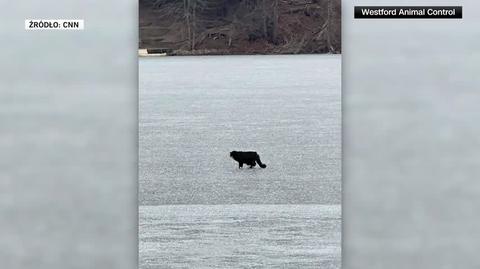
[[[339,204],[341,58],[141,58],[139,199]],[[266,169],[238,169],[253,150]]]

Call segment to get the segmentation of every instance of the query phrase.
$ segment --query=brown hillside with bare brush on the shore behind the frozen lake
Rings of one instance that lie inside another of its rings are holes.
[[[340,53],[340,0],[140,0],[140,48]]]

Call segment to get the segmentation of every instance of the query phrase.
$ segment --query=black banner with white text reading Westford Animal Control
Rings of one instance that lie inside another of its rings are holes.
[[[355,19],[461,19],[461,6],[356,6]]]

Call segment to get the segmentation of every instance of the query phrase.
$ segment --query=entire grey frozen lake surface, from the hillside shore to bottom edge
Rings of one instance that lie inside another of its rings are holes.
[[[340,56],[141,58],[139,74],[140,268],[340,268]]]

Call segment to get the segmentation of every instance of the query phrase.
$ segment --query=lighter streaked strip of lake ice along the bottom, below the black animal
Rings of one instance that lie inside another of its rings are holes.
[[[339,205],[140,207],[140,268],[340,268]]]

